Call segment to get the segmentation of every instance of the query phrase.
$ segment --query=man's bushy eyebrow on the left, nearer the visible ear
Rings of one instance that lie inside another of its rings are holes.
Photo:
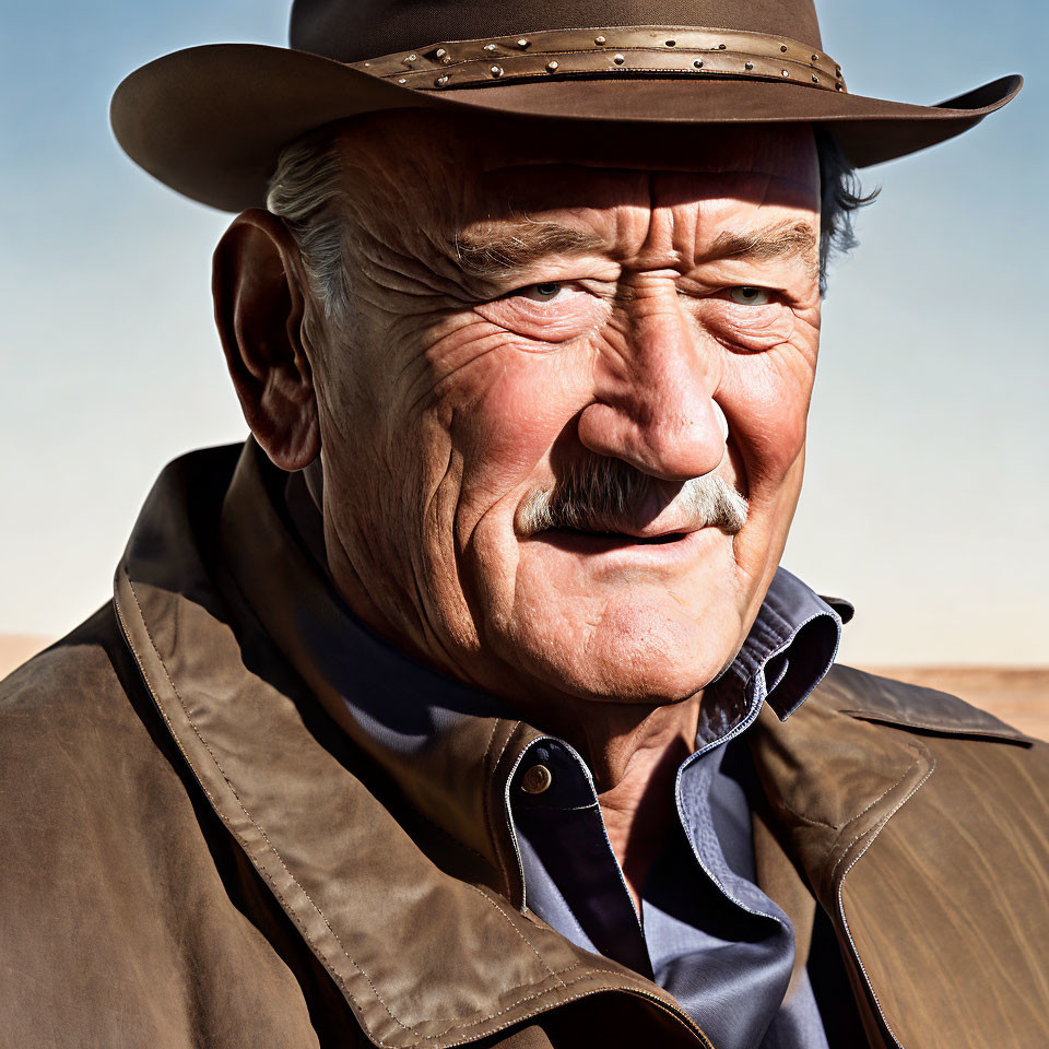
[[[506,232],[460,234],[455,252],[460,269],[481,280],[505,280],[554,255],[605,254],[609,241],[596,233],[557,222],[528,222]]]

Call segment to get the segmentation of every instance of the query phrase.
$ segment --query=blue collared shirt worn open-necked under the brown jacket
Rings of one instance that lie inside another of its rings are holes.
[[[677,770],[676,820],[635,910],[609,844],[590,771],[554,738],[521,755],[506,790],[527,905],[585,950],[667,988],[719,1049],[822,1049],[806,976],[785,994],[794,960],[790,919],[755,882],[755,782],[740,741],[767,700],[781,718],[834,662],[841,617],[780,569],[746,643],[708,686],[696,750]],[[549,776],[534,791],[537,765]],[[522,786],[522,783],[524,786]]]

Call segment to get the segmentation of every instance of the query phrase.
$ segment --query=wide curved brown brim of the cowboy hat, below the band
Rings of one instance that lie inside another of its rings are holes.
[[[385,109],[427,108],[681,128],[833,126],[858,167],[905,156],[979,123],[1023,86],[1002,76],[936,106],[798,84],[714,78],[544,80],[419,91],[306,51],[211,44],[131,73],[110,106],[117,141],[172,189],[224,211],[262,207],[278,154],[307,131]],[[618,132],[617,132],[618,133]]]

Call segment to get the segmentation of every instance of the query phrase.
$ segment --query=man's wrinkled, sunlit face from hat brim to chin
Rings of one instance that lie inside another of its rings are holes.
[[[496,694],[682,699],[742,644],[801,486],[815,148],[699,129],[687,158],[600,157],[529,134],[347,132],[352,309],[313,352],[332,575]],[[688,482],[711,473],[742,528],[698,527]],[[576,527],[531,531],[568,481]]]

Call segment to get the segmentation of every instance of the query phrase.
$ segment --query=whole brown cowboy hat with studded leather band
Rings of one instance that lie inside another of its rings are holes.
[[[574,27],[575,26],[575,27]],[[942,142],[1023,85],[938,106],[853,95],[812,0],[294,0],[291,49],[215,44],[128,76],[110,117],[151,175],[228,211],[260,205],[281,148],[398,108],[626,126],[828,125],[859,167]]]

